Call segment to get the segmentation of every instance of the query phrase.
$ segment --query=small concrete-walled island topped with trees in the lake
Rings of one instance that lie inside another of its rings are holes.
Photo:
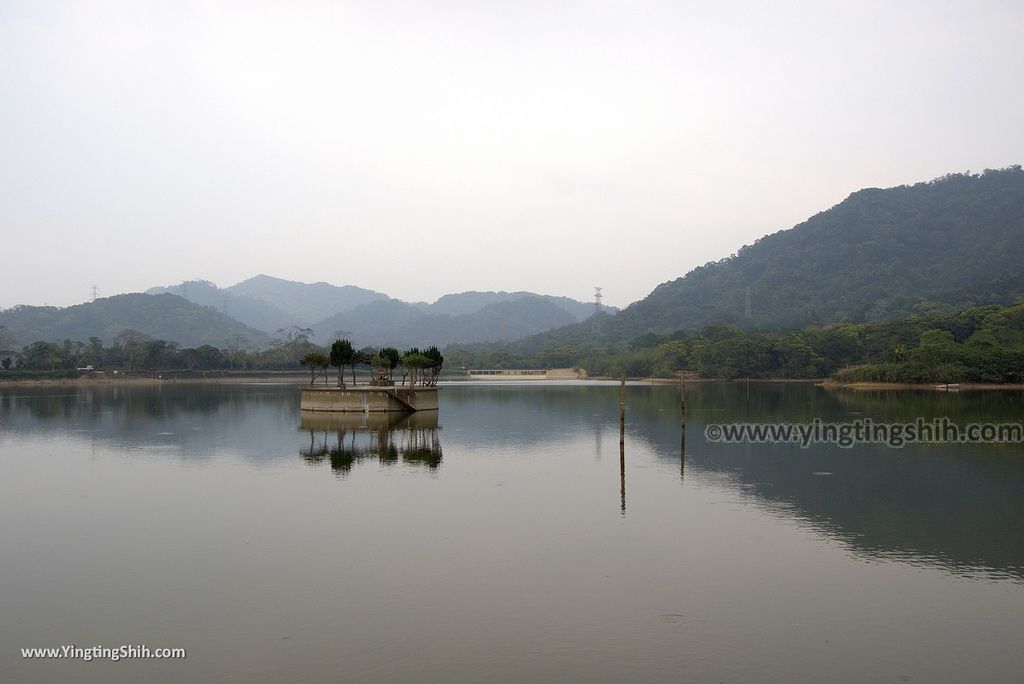
[[[383,347],[377,353],[357,351],[348,340],[335,340],[330,353],[314,351],[299,362],[309,369],[309,387],[303,388],[299,408],[302,412],[329,413],[416,413],[437,411],[437,378],[444,356],[437,347],[421,351],[417,347],[400,353]],[[356,365],[370,367],[370,380],[357,385]],[[328,370],[338,369],[332,387]],[[351,369],[351,384],[345,383],[345,369]],[[395,371],[401,381],[395,384]],[[316,386],[319,376],[324,386]],[[407,384],[408,383],[408,384]]]

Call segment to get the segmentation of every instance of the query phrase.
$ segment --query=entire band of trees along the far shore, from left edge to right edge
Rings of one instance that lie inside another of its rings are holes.
[[[400,369],[418,383],[459,379],[452,369],[574,369],[592,379],[677,381],[817,381],[828,386],[895,388],[958,385],[961,389],[1024,385],[1024,302],[961,311],[922,305],[923,313],[868,324],[838,324],[792,331],[707,326],[699,333],[646,333],[613,347],[560,344],[531,348],[531,338],[511,345],[435,347],[404,353],[389,347],[356,350],[338,340],[332,347],[310,342],[308,329],[279,331],[261,351],[180,348],[124,331],[104,346],[34,342],[18,352],[0,353],[0,383],[28,381],[136,382],[210,381],[287,377],[298,381],[302,368],[310,383],[328,380],[338,369],[339,383],[358,375],[367,382],[393,382]],[[599,316],[594,316],[600,326]],[[0,331],[2,332],[2,331]],[[341,344],[341,348],[333,348]],[[8,343],[4,346],[10,349]],[[350,351],[350,353],[349,353]],[[441,364],[445,365],[443,377]],[[95,371],[93,369],[96,369]],[[96,378],[103,369],[103,376]]]

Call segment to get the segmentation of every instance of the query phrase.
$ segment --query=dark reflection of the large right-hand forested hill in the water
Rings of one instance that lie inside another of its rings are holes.
[[[675,395],[678,396],[678,395]],[[720,444],[708,423],[903,422],[949,416],[959,424],[1020,420],[1021,392],[831,392],[808,385],[692,384],[687,387],[686,469],[727,474],[745,494],[811,521],[858,553],[936,563],[963,572],[1024,579],[1024,458],[1019,445],[920,444],[852,448]],[[636,435],[666,460],[679,458],[679,433],[657,405],[633,403]],[[780,506],[779,506],[780,505]]]

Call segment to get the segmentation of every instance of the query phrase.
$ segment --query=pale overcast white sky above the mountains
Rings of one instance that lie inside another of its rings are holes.
[[[1024,161],[1024,3],[0,2],[0,307],[268,274],[625,305]]]

